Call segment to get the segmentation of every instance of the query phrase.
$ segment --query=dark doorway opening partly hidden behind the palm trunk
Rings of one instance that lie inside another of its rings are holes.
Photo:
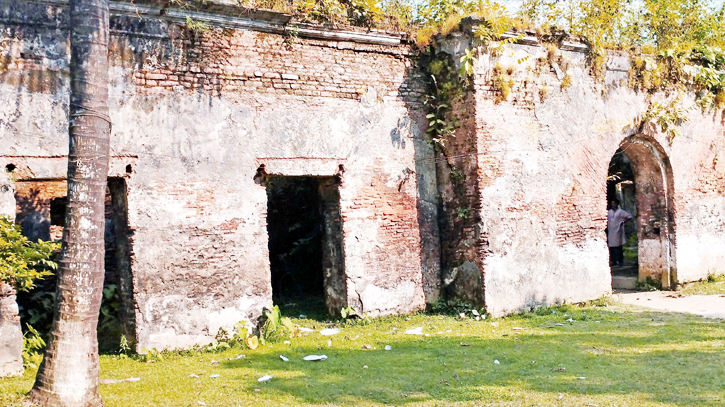
[[[68,204],[65,181],[16,182],[16,221],[31,239],[60,241]],[[118,352],[121,336],[135,342],[135,306],[131,276],[132,238],[128,226],[126,180],[108,178],[105,196],[105,276],[98,321],[101,352]],[[49,276],[27,293],[19,293],[21,319],[47,338],[55,308],[56,277]],[[23,325],[25,327],[25,325]]]

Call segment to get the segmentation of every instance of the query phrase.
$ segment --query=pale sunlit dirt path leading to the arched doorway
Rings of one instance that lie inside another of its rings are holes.
[[[615,294],[615,298],[623,304],[725,319],[724,295],[683,296],[672,291],[651,291],[620,292]]]

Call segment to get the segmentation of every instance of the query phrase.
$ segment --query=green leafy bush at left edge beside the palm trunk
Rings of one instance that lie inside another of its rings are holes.
[[[22,229],[7,217],[0,217],[0,281],[18,291],[28,291],[35,282],[58,268],[53,256],[60,244],[23,236]]]

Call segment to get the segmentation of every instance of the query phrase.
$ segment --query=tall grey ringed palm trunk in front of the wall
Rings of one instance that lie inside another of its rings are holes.
[[[68,209],[57,304],[32,402],[99,406],[98,312],[103,297],[108,118],[108,1],[70,0]]]

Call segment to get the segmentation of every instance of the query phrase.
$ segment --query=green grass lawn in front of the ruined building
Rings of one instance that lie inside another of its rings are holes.
[[[101,394],[107,406],[725,405],[722,320],[590,305],[493,321],[388,317],[338,324],[334,336],[319,334],[324,321],[294,322],[317,331],[155,363],[102,356],[102,378],[141,380],[101,385]],[[430,336],[403,334],[413,327]],[[329,359],[303,361],[309,354]],[[34,376],[0,379],[0,404],[21,402]]]

